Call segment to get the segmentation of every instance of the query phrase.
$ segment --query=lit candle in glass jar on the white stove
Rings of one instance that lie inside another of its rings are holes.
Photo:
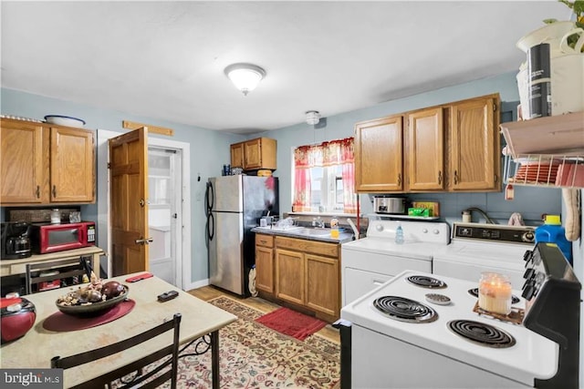
[[[509,314],[511,312],[511,282],[493,272],[481,274],[478,288],[478,306],[487,312]]]

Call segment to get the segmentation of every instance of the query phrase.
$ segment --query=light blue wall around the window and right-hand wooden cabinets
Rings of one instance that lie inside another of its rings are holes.
[[[352,137],[355,123],[362,120],[382,118],[413,109],[432,107],[492,93],[499,93],[504,109],[515,110],[516,103],[506,103],[517,102],[519,100],[516,86],[516,72],[480,79],[455,87],[445,87],[432,92],[405,97],[381,103],[373,107],[365,107],[336,115],[327,118],[325,128],[316,129],[314,126],[301,123],[264,133],[264,136],[277,140],[278,169],[275,175],[280,178],[280,210],[283,212],[291,210],[292,189],[290,187],[290,177],[293,148],[334,138]],[[510,107],[506,108],[506,106]],[[510,113],[512,112],[507,112],[507,114]],[[513,117],[510,117],[502,121],[513,119]],[[416,194],[408,197],[412,200],[440,201],[441,214],[447,221],[461,220],[462,210],[469,207],[478,207],[485,210],[492,218],[505,223],[513,212],[520,212],[528,224],[540,222],[542,213],[558,214],[561,210],[559,189],[516,187],[516,200],[513,201],[506,201],[503,191],[495,193]],[[361,195],[360,199],[362,213],[367,214],[372,212],[370,196]],[[478,215],[475,218],[474,221],[479,220]]]

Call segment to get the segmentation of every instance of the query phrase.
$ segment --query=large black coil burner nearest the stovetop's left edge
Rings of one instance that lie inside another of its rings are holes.
[[[405,297],[382,296],[373,302],[373,306],[391,319],[401,322],[433,322],[438,319],[438,313],[432,308]]]

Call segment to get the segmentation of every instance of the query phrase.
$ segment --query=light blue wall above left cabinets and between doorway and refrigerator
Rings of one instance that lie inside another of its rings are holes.
[[[208,278],[207,249],[205,246],[205,214],[203,196],[205,182],[209,177],[220,176],[224,163],[230,161],[229,145],[244,139],[244,137],[213,131],[205,128],[186,126],[157,118],[146,118],[111,109],[89,107],[71,101],[57,100],[2,88],[0,94],[1,112],[4,115],[13,115],[23,118],[42,120],[45,115],[65,115],[74,118],[83,118],[85,128],[107,129],[111,131],[127,132],[121,127],[122,120],[148,123],[174,129],[172,140],[191,144],[190,169],[191,180],[191,232],[192,232],[192,265],[191,279],[193,282]],[[151,137],[165,138],[151,134]],[[167,138],[167,137],[166,137]],[[201,181],[197,181],[197,174],[201,174]],[[107,177],[107,171],[99,171],[99,176]],[[106,182],[104,180],[104,182]],[[101,201],[101,199],[99,199]],[[83,206],[85,220],[98,220],[98,206],[92,204]],[[4,210],[2,210],[2,220]]]

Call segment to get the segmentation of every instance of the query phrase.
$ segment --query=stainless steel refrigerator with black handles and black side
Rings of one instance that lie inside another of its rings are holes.
[[[212,285],[249,295],[249,271],[255,265],[252,228],[262,216],[278,215],[275,177],[224,176],[207,182],[207,247]]]

